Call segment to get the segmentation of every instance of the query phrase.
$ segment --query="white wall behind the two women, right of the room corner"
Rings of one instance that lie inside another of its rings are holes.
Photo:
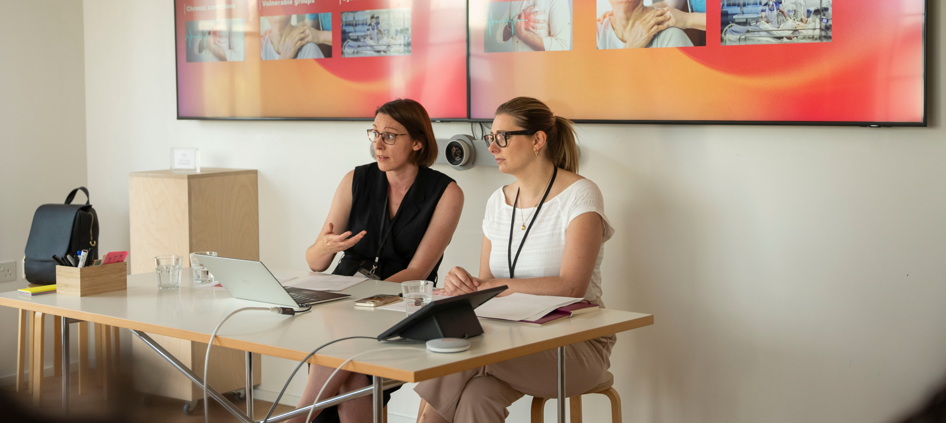
[[[175,120],[171,8],[84,5],[103,244],[129,244],[128,172],[193,146],[204,166],[259,170],[262,260],[304,269],[342,174],[368,160],[365,124]],[[944,380],[946,16],[930,8],[929,129],[581,127],[582,173],[618,231],[605,246],[608,305],[657,320],[620,335],[612,356],[625,421],[889,422]],[[508,178],[440,169],[466,197],[445,264],[475,269],[483,205]],[[263,365],[267,397],[290,363]],[[402,390],[392,421],[409,421],[412,401]],[[604,402],[586,401],[588,421],[604,421]],[[527,417],[520,401],[510,421]]]

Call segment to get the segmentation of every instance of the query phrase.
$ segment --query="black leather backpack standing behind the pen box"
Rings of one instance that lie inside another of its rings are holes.
[[[85,193],[85,204],[73,204],[79,189]],[[43,204],[33,215],[33,225],[26,239],[26,259],[23,263],[26,280],[33,284],[56,283],[56,262],[52,256],[76,254],[89,250],[86,261],[98,258],[98,217],[89,203],[85,186],[73,189],[62,204]]]

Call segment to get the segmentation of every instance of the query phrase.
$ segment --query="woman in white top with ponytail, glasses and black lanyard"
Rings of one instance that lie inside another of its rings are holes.
[[[516,182],[499,188],[486,205],[479,276],[453,268],[445,293],[506,285],[504,295],[585,297],[604,306],[602,244],[614,230],[598,186],[575,173],[571,122],[537,99],[517,97],[499,106],[493,131],[483,139],[499,171]],[[566,347],[568,397],[603,381],[614,342],[611,335]],[[420,382],[414,388],[424,399],[418,421],[503,421],[506,408],[523,395],[556,397],[555,366],[549,350]]]

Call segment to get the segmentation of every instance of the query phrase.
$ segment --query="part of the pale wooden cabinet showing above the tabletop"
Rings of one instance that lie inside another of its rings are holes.
[[[132,172],[131,273],[154,272],[154,256],[215,251],[259,259],[256,170],[204,167],[200,173]]]

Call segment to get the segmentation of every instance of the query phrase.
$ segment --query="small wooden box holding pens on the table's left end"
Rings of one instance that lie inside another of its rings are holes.
[[[89,267],[56,266],[56,293],[84,297],[128,289],[125,262]]]

